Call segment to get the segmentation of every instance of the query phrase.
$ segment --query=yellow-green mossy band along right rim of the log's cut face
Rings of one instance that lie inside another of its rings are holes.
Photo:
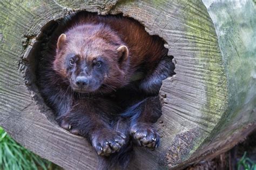
[[[203,11],[199,12],[198,9],[203,9]],[[188,43],[196,49],[196,52],[191,55],[196,62],[195,69],[201,72],[201,81],[204,82],[204,87],[200,87],[198,90],[203,88],[206,91],[206,103],[200,109],[201,121],[199,124],[204,126],[207,132],[211,132],[224,115],[227,107],[227,80],[224,65],[214,25],[204,4],[195,3],[187,7],[185,11],[187,12],[184,13],[187,21],[186,34],[192,36]],[[206,136],[210,136],[207,132],[202,132],[197,141],[194,141],[190,154],[203,144]],[[185,158],[188,158],[188,155]]]

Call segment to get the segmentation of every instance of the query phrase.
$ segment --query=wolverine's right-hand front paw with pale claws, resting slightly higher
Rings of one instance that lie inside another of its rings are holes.
[[[134,124],[130,134],[139,146],[154,149],[159,145],[159,135],[151,124]]]

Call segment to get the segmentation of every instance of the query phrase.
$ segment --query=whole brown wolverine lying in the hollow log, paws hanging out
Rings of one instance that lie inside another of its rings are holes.
[[[79,12],[42,49],[39,90],[58,124],[91,143],[98,169],[125,168],[133,145],[159,145],[158,93],[175,74],[164,43],[131,18]]]

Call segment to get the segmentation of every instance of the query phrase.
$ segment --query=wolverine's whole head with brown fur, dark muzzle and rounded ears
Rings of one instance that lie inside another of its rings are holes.
[[[53,69],[78,93],[103,93],[126,85],[128,54],[109,27],[79,25],[59,36]]]

